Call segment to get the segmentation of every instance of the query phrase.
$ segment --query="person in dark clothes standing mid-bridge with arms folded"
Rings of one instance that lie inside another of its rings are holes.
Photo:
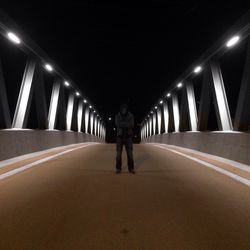
[[[134,116],[129,112],[128,105],[122,104],[120,112],[115,116],[115,125],[117,130],[116,137],[116,173],[119,174],[122,169],[122,149],[125,146],[127,153],[128,170],[135,174],[133,159],[133,127]]]

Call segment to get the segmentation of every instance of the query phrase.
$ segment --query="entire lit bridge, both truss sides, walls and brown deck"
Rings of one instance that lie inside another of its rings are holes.
[[[0,13],[0,249],[249,250],[249,31],[163,93],[117,174],[97,108]]]

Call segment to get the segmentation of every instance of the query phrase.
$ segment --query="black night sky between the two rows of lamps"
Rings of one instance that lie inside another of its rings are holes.
[[[20,1],[0,8],[76,82],[103,118],[128,102],[140,123],[178,75],[250,5],[218,2]]]

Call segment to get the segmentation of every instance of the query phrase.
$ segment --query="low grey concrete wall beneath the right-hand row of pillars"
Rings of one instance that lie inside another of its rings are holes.
[[[142,141],[198,150],[250,165],[250,133],[181,132],[151,136]]]

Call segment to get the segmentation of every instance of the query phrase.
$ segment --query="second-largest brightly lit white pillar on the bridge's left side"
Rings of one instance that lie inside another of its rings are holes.
[[[52,89],[51,99],[50,99],[49,115],[48,115],[48,129],[55,129],[60,88],[61,88],[60,82],[55,81],[53,84],[53,89]]]

